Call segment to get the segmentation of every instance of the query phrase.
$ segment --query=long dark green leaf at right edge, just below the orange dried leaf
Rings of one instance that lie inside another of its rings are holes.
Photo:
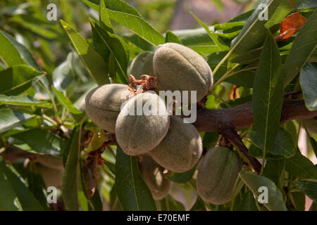
[[[290,84],[309,58],[317,44],[317,10],[309,17],[307,23],[297,33],[290,54],[287,56],[283,73],[284,86]]]

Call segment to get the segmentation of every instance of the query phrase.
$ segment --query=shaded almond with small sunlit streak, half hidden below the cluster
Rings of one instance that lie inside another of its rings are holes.
[[[150,156],[143,155],[139,162],[139,172],[149,187],[154,200],[161,200],[170,191],[170,180],[163,174],[164,168],[155,162]]]

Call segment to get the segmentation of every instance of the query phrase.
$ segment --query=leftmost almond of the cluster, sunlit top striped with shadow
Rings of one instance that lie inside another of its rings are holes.
[[[102,129],[115,131],[121,105],[132,93],[125,84],[105,84],[87,94],[85,107],[88,117]]]

